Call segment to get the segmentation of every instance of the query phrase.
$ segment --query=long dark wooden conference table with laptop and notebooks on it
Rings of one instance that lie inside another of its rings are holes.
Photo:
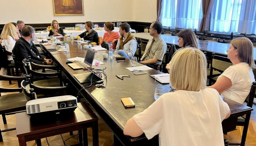
[[[76,42],[69,40],[70,51],[48,51],[44,45],[41,45],[52,57],[52,59],[60,66],[63,74],[70,80],[77,91],[82,87],[88,86],[88,84],[79,83],[79,81],[73,76],[74,74],[84,73],[86,71],[73,70],[66,64],[66,60],[73,57],[85,57],[87,49],[81,49],[80,45]],[[108,51],[99,51],[100,61],[105,64],[100,65],[100,69],[104,70],[107,75],[107,79],[104,80],[106,88],[96,88],[94,84],[90,88],[81,90],[83,97],[90,103],[92,108],[98,113],[101,119],[107,124],[107,126],[114,133],[115,144],[122,143],[123,145],[158,145],[158,136],[148,140],[145,135],[132,138],[123,134],[123,129],[127,120],[133,117],[133,115],[142,112],[149,105],[151,105],[154,99],[154,92],[156,87],[164,87],[166,92],[170,92],[169,84],[161,84],[149,75],[162,74],[162,72],[151,69],[146,70],[147,74],[134,75],[126,67],[131,67],[131,60],[126,59],[124,62],[116,62],[115,59],[103,59],[102,53],[108,53]],[[138,63],[138,66],[142,66]],[[115,75],[131,75],[130,78],[124,78],[121,80]],[[121,98],[131,97],[135,103],[135,108],[124,108]],[[243,114],[250,113],[253,109],[248,106],[233,102],[225,99],[231,107],[231,117],[238,117]],[[247,133],[247,129],[245,131]],[[242,143],[245,139],[242,140]]]

